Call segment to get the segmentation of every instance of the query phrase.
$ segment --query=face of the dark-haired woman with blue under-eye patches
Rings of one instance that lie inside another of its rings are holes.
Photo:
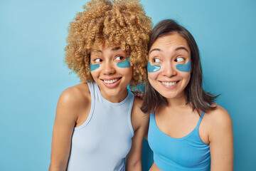
[[[149,49],[148,78],[165,98],[183,98],[191,78],[191,50],[185,38],[172,33],[157,38]]]

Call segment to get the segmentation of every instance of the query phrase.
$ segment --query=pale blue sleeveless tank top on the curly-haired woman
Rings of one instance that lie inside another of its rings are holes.
[[[85,123],[74,129],[68,171],[123,171],[134,135],[134,95],[128,90],[122,102],[111,103],[102,97],[96,83],[87,84],[92,106]]]

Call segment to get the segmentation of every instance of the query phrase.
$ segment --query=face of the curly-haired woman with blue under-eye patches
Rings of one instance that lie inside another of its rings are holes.
[[[119,46],[102,45],[98,51],[92,51],[90,71],[104,98],[117,103],[126,97],[132,67],[127,53]]]

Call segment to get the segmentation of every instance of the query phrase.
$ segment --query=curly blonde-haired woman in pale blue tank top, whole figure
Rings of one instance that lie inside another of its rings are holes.
[[[137,0],[92,0],[84,9],[65,48],[82,83],[58,100],[49,170],[142,170],[149,117],[127,86],[145,81],[151,19]]]

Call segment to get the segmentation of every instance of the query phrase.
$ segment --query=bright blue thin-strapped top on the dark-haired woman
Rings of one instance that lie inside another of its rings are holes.
[[[210,167],[210,147],[199,137],[196,128],[183,138],[172,138],[163,133],[156,125],[155,114],[151,113],[148,141],[154,152],[154,162],[162,171],[206,171]]]

